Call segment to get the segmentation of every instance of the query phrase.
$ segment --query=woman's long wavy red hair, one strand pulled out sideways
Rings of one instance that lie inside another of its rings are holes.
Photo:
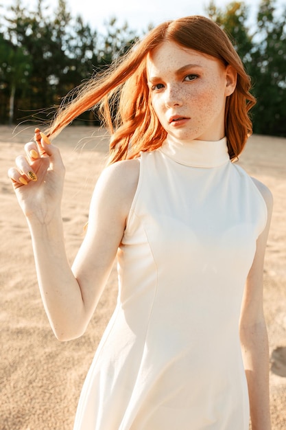
[[[219,25],[204,16],[187,16],[154,28],[108,71],[82,84],[72,96],[69,94],[47,135],[57,135],[78,115],[96,107],[111,133],[109,163],[159,148],[167,133],[150,102],[146,59],[163,41],[213,56],[237,71],[236,89],[226,98],[224,125],[230,159],[238,157],[252,133],[248,111],[255,98],[249,92],[250,78],[230,39]]]

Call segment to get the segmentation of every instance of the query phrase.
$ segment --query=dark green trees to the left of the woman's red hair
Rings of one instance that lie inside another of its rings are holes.
[[[20,0],[8,12],[0,31],[2,124],[47,120],[64,95],[110,64],[136,38],[116,19],[106,26],[107,35],[99,37],[80,16],[71,17],[65,0],[58,0],[53,14],[43,0],[38,0],[36,12],[23,8]],[[89,113],[83,117],[95,121]]]

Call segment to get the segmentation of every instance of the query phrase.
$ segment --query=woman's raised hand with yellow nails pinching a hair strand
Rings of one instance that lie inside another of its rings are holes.
[[[48,224],[60,211],[64,164],[58,148],[38,128],[35,141],[25,145],[25,155],[16,157],[8,176],[25,216]]]

